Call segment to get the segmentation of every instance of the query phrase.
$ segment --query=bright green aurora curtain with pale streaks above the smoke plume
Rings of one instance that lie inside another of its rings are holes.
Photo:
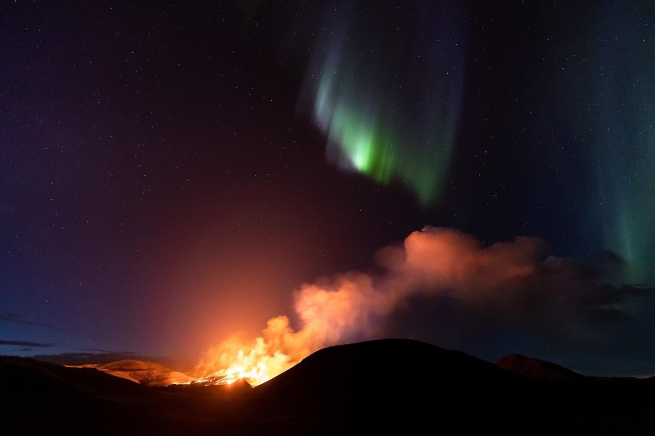
[[[351,8],[352,7],[352,8]],[[327,157],[375,182],[400,182],[437,201],[448,175],[460,110],[465,25],[456,3],[368,16],[333,3],[312,48],[300,107],[327,137]]]

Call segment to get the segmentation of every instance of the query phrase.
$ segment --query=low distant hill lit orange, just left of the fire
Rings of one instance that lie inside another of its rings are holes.
[[[169,384],[185,384],[192,382],[193,377],[174,371],[160,363],[144,360],[115,360],[103,363],[88,363],[86,365],[67,365],[77,368],[95,368],[116,377],[126,378],[145,386],[168,386]]]

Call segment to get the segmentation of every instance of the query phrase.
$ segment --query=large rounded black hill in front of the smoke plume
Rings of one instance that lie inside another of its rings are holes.
[[[489,404],[523,380],[467,354],[417,341],[386,339],[320,350],[257,388],[263,419],[302,433],[365,433],[402,428],[498,426]],[[462,413],[465,412],[465,413]],[[476,420],[462,420],[476,415]]]

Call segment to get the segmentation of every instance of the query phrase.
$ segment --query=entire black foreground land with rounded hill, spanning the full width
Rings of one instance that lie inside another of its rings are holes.
[[[0,360],[0,383],[0,434],[386,434],[422,429],[421,434],[626,435],[655,429],[653,380],[536,380],[460,352],[400,339],[320,350],[252,389],[146,388],[94,369],[7,363],[6,358]]]

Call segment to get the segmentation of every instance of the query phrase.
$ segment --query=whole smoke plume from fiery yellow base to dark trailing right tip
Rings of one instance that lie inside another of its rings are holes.
[[[547,254],[536,238],[485,247],[455,229],[426,227],[403,246],[379,252],[381,273],[353,271],[303,284],[295,293],[297,330],[277,316],[254,341],[234,338],[212,348],[198,369],[212,380],[260,384],[325,346],[388,335],[398,308],[415,298],[446,297],[534,334],[548,326],[555,336],[587,341],[598,328],[589,320],[616,320],[622,305],[647,292],[599,284],[588,266]]]

